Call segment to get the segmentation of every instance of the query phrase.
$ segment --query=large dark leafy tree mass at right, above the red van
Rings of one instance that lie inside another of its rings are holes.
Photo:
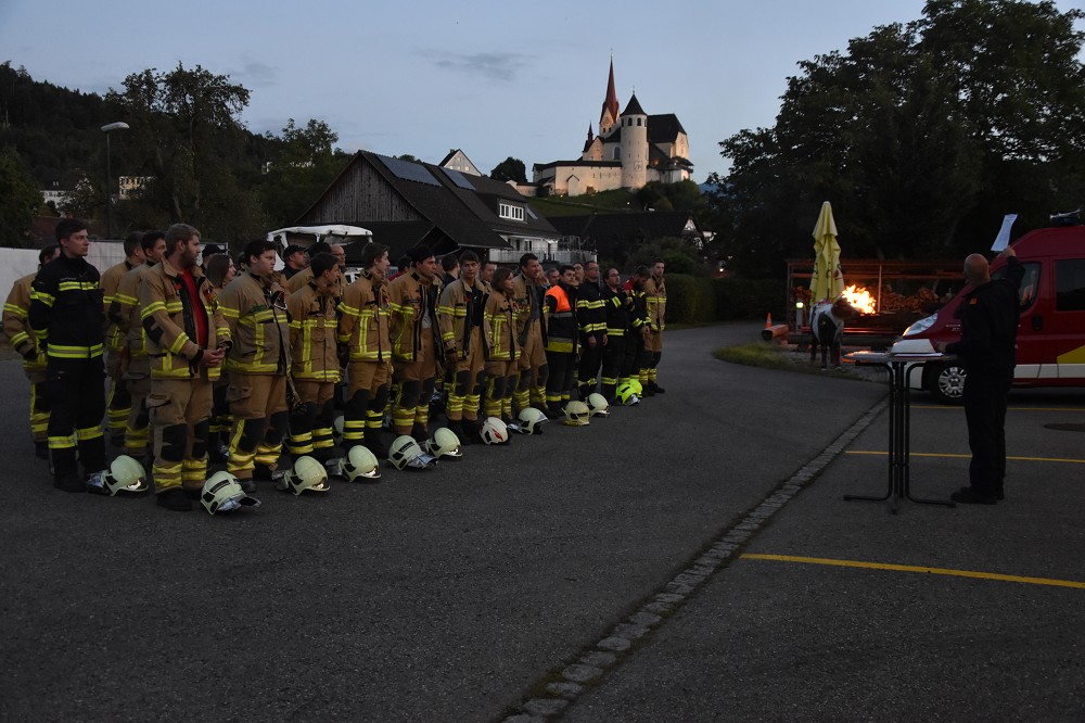
[[[946,257],[990,246],[1085,195],[1081,11],[1049,1],[929,0],[800,63],[771,128],[720,143],[710,194],[732,268],[778,275],[812,255],[831,201],[844,254]]]

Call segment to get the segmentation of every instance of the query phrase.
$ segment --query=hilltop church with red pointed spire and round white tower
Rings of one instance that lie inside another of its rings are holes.
[[[692,170],[689,138],[678,116],[648,115],[636,92],[625,111],[620,112],[613,58],[599,116],[599,135],[588,124],[588,138],[578,160],[536,163],[532,167],[533,185],[539,195],[638,189],[649,181],[676,183],[689,179]]]

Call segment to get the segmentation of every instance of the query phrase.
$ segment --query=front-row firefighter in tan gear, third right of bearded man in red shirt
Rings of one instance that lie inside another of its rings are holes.
[[[348,449],[363,444],[378,459],[388,456],[381,424],[392,380],[392,307],[384,283],[390,265],[387,246],[367,243],[361,251],[363,270],[340,303],[340,356],[347,359],[343,443]]]

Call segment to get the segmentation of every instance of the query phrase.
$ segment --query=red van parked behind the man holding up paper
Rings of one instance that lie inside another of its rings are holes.
[[[1024,265],[1014,386],[1085,385],[1085,226],[1031,231],[1013,242],[1013,251]],[[1005,272],[1005,258],[995,259],[992,278]],[[955,315],[969,290],[966,287],[936,314],[905,329],[891,351],[929,353],[933,342],[960,339]],[[909,381],[940,402],[958,403],[965,370],[955,363],[931,363],[922,375],[910,375]]]

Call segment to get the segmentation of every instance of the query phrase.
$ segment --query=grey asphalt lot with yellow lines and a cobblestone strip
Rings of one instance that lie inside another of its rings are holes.
[[[711,357],[756,332],[671,333],[667,394],[589,428],[233,517],[54,492],[8,415],[0,719],[1085,716],[1085,455],[1047,427],[1085,394],[1011,396],[1006,502],[893,516],[842,499],[884,489],[884,388]],[[963,416],[924,402],[947,496]]]

